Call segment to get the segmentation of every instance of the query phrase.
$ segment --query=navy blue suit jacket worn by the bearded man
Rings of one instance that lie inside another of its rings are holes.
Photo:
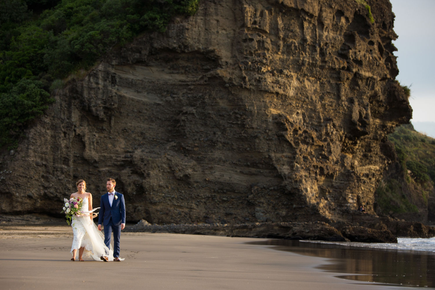
[[[113,199],[110,207],[109,194],[103,194],[100,201],[100,213],[98,214],[98,224],[106,226],[109,223],[110,217],[115,226],[125,223],[125,202],[124,195],[115,191],[117,199]]]

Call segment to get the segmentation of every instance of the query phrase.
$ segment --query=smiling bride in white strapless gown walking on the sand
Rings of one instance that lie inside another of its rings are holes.
[[[96,261],[101,261],[102,255],[109,256],[109,261],[113,260],[113,248],[110,249],[104,244],[104,236],[98,230],[94,221],[92,220],[97,215],[92,209],[92,194],[86,192],[86,182],[80,179],[76,183],[77,192],[71,194],[72,197],[81,197],[83,199],[82,207],[80,209],[80,216],[73,215],[71,227],[73,227],[74,239],[71,247],[73,257],[71,261],[76,260],[77,250],[79,250],[79,261],[84,261],[83,257],[90,257]]]

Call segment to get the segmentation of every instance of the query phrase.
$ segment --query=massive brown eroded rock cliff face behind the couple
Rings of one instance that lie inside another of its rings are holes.
[[[333,221],[374,193],[411,118],[388,0],[203,0],[57,92],[0,164],[2,213],[60,212],[105,178],[127,221]],[[4,173],[4,171],[8,173]],[[12,173],[9,173],[12,171]]]

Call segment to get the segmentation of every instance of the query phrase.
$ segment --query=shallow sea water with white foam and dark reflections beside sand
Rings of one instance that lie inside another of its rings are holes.
[[[398,243],[267,240],[274,250],[326,258],[318,269],[369,285],[435,289],[435,238],[398,238]]]

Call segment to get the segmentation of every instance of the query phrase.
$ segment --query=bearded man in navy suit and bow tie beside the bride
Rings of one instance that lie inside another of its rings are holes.
[[[101,224],[104,225],[104,243],[110,249],[110,234],[113,230],[113,257],[114,261],[119,259],[119,239],[121,230],[125,227],[125,202],[124,195],[115,191],[116,181],[113,178],[107,178],[107,193],[101,197],[100,213],[98,216],[98,230],[101,230]],[[107,255],[108,253],[106,253]],[[107,262],[107,256],[101,256],[101,260]]]

